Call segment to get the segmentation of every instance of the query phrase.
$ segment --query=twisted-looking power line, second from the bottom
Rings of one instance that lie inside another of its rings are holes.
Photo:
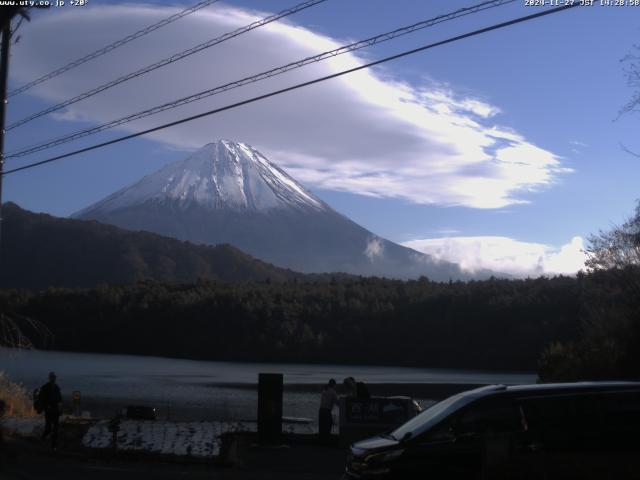
[[[329,50],[317,55],[313,55],[310,57],[306,57],[303,58],[302,60],[297,60],[295,62],[291,62],[288,63],[286,65],[277,67],[277,68],[273,68],[271,70],[267,70],[261,73],[258,73],[256,75],[252,75],[250,77],[245,77],[243,79],[240,80],[236,80],[234,82],[230,82],[224,85],[220,85],[208,90],[204,90],[198,93],[195,93],[193,95],[189,95],[187,97],[182,97],[179,98],[177,100],[171,101],[171,102],[167,102],[164,103],[162,105],[158,105],[155,106],[153,108],[147,109],[147,110],[143,110],[141,112],[137,112],[137,113],[133,113],[124,117],[121,117],[117,120],[112,120],[110,122],[107,123],[103,123],[100,125],[96,125],[94,127],[90,127],[84,130],[80,130],[78,132],[74,132],[62,137],[58,137],[55,139],[51,139],[51,140],[47,140],[45,142],[40,142],[36,145],[32,145],[30,147],[26,147],[23,148],[21,150],[16,150],[13,152],[9,152],[9,154],[5,157],[6,159],[10,159],[10,158],[17,158],[17,157],[24,157],[26,155],[31,155],[33,153],[36,152],[40,152],[42,150],[47,150],[49,148],[53,148],[59,145],[63,145],[65,143],[69,143],[71,141],[74,140],[78,140],[80,138],[89,136],[89,135],[93,135],[105,130],[108,130],[110,128],[114,128],[129,122],[132,122],[134,120],[139,120],[141,118],[145,118],[145,117],[149,117],[151,115],[155,115],[157,113],[160,112],[164,112],[166,110],[170,110],[173,108],[177,108],[195,101],[199,101],[202,100],[204,98],[208,98],[210,96],[213,95],[217,95],[223,92],[227,92],[229,90],[233,90],[235,88],[244,86],[244,85],[248,85],[250,83],[255,83],[261,80],[265,80],[267,78],[271,78],[274,77],[276,75],[280,75],[286,72],[289,72],[291,70],[295,70],[297,68],[301,68],[305,65],[309,65],[311,63],[316,63],[316,62],[320,62],[322,60],[326,60],[328,58],[333,58],[336,57],[338,55],[342,55],[344,53],[348,53],[348,52],[353,52],[355,50],[359,50],[365,47],[369,47],[372,45],[376,45],[378,43],[382,43],[382,42],[386,42],[389,40],[392,40],[394,38],[403,36],[403,35],[407,35],[409,33],[413,33],[415,31],[427,28],[427,27],[431,27],[434,25],[437,25],[439,23],[443,23],[446,21],[450,21],[450,20],[454,20],[456,18],[459,17],[463,17],[466,15],[470,15],[470,14],[474,14],[474,13],[478,13],[481,12],[483,10],[488,10],[490,8],[495,8],[495,7],[499,7],[508,3],[512,3],[515,0],[489,0],[489,1],[485,1],[482,3],[479,3],[477,5],[473,5],[471,7],[466,7],[466,8],[461,8],[459,10],[455,10],[451,13],[447,13],[444,15],[439,15],[437,17],[428,19],[428,20],[423,20],[421,22],[417,22],[414,23],[413,25],[409,25],[406,27],[402,27],[402,28],[398,28],[395,29],[393,31],[390,32],[386,32],[386,33],[382,33],[373,37],[369,37],[365,40],[360,40],[358,42],[354,42],[351,43],[349,45],[345,45],[333,50]]]

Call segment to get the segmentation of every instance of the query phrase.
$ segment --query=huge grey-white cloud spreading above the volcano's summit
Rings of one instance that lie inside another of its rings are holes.
[[[88,52],[173,11],[104,5],[39,16],[14,49],[13,80],[20,84],[72,60],[82,53],[78,42]],[[73,81],[63,75],[32,94],[47,102],[65,100],[260,17],[228,6],[209,8],[82,65]],[[109,121],[339,45],[290,22],[269,24],[79,102],[55,119]],[[149,128],[362,63],[362,57],[342,55],[123,128]],[[523,203],[522,193],[548,187],[569,171],[554,153],[495,123],[499,107],[435,82],[392,80],[393,68],[360,71],[151,137],[184,149],[220,138],[244,141],[310,186],[424,204]]]

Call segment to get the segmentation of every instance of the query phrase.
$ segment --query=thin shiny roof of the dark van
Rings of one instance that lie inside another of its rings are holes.
[[[504,394],[568,394],[583,392],[607,392],[619,390],[638,390],[640,382],[568,382],[568,383],[537,383],[531,385],[487,385],[462,393],[461,395],[476,399]]]

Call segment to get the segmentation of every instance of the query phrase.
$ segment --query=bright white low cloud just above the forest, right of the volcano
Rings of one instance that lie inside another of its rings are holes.
[[[466,271],[489,269],[516,277],[572,275],[584,268],[586,260],[581,237],[559,248],[498,236],[429,238],[403,245],[458,263]]]

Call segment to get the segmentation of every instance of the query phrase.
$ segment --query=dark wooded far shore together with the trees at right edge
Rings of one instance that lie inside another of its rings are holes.
[[[0,290],[0,346],[640,380],[640,203],[589,242],[588,273],[575,277],[298,274]]]

